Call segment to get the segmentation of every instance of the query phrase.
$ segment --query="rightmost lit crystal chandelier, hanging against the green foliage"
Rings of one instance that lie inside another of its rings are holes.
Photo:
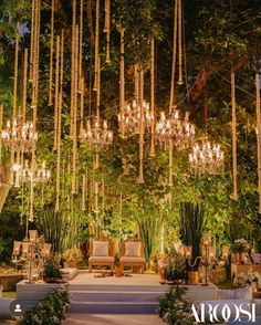
[[[218,175],[223,171],[225,154],[219,144],[203,139],[195,144],[189,162],[197,171]]]

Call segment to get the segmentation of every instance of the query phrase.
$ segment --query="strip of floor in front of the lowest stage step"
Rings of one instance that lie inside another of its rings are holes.
[[[165,324],[155,315],[92,315],[69,314],[63,325],[163,325]]]

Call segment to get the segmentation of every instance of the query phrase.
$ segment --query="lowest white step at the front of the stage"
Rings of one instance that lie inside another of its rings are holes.
[[[70,305],[71,314],[156,314],[156,302],[77,302]]]

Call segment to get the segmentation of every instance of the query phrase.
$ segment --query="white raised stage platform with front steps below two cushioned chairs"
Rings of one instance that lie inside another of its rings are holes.
[[[17,284],[18,298],[32,308],[41,298],[52,292],[58,284]],[[188,296],[198,304],[200,301],[216,300],[217,287],[189,285]],[[129,276],[95,277],[95,273],[80,272],[69,281],[71,298],[70,313],[76,314],[155,314],[158,298],[168,291],[168,285],[159,284],[157,274],[130,274]]]

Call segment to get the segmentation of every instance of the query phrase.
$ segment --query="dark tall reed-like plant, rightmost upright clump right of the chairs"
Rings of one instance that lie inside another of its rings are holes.
[[[179,237],[184,244],[192,247],[192,261],[200,255],[200,242],[205,229],[203,205],[182,202],[179,214]],[[196,263],[192,271],[198,271]]]

